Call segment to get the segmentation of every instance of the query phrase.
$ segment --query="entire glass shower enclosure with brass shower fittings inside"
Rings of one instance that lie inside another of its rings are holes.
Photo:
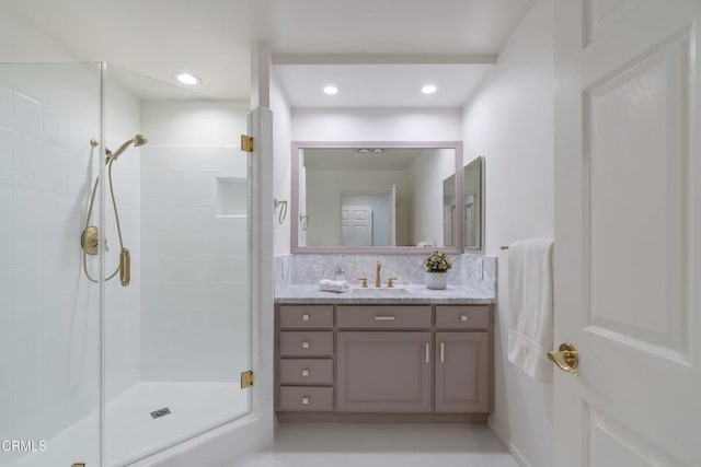
[[[127,466],[251,410],[245,119],[0,65],[0,466]]]

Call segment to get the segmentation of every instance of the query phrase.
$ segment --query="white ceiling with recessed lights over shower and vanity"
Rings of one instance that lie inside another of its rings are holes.
[[[191,71],[203,80],[197,92],[216,98],[249,98],[251,44],[265,40],[274,61],[301,57],[304,63],[275,67],[295,106],[461,105],[489,67],[485,57],[498,54],[533,3],[0,0],[80,60],[107,61],[164,82],[175,71]],[[348,57],[346,62],[365,65],[343,65]],[[341,89],[335,102],[321,98],[319,83],[326,80]],[[425,81],[439,86],[428,100],[416,93]]]

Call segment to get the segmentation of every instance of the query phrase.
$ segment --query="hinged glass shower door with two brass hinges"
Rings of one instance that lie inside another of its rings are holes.
[[[246,108],[105,75],[104,455],[125,466],[250,410]]]

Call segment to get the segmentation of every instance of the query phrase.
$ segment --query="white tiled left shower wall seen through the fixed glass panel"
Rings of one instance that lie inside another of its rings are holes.
[[[97,407],[100,295],[79,246],[95,137],[0,86],[0,433],[11,439],[49,439]]]

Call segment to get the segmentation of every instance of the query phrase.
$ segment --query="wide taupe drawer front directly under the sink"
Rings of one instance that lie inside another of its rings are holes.
[[[338,328],[429,328],[430,306],[338,306]]]

